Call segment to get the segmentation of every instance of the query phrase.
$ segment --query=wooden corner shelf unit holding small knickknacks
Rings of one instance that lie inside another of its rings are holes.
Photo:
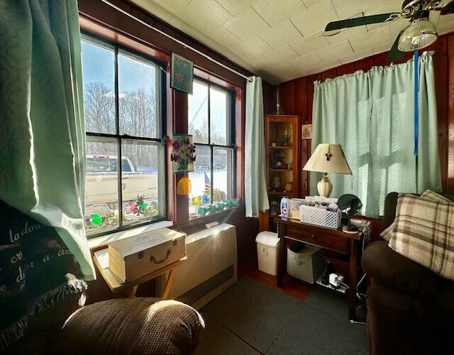
[[[278,206],[282,196],[299,197],[299,140],[301,126],[297,115],[266,115],[265,116],[265,149],[267,161],[267,191],[270,207],[273,201]],[[287,128],[287,141],[284,132]],[[280,165],[277,166],[277,160]],[[291,164],[291,165],[289,165]],[[273,178],[279,178],[282,186],[274,188]],[[285,185],[292,183],[292,191],[287,191]],[[260,214],[260,231],[273,230],[272,218],[277,214],[270,211]]]

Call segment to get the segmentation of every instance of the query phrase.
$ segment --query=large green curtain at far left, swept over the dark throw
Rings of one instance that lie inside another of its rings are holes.
[[[80,53],[76,0],[0,2],[0,200],[54,226],[91,280]]]

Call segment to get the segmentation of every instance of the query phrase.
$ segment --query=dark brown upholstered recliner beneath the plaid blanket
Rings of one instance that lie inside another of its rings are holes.
[[[397,196],[386,197],[382,230],[394,222]],[[445,197],[454,201],[453,195]],[[370,354],[454,354],[454,282],[401,256],[384,240],[367,247],[361,266],[370,276]]]

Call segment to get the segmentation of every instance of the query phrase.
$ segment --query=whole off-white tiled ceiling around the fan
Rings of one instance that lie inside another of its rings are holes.
[[[273,83],[387,52],[409,24],[399,19],[321,33],[328,22],[358,13],[399,11],[402,0],[131,1]],[[432,12],[431,21],[440,34],[454,31],[454,15]]]

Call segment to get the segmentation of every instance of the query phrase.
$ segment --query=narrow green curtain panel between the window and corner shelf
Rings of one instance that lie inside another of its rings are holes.
[[[246,217],[258,217],[270,209],[267,195],[262,78],[246,84],[245,117],[245,207]]]

